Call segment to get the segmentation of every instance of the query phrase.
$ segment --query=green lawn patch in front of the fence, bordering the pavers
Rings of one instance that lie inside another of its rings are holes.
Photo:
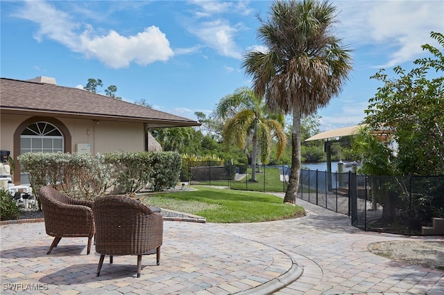
[[[284,204],[265,193],[191,186],[196,190],[140,196],[144,204],[205,217],[207,222],[239,223],[283,220],[305,215],[304,208]]]

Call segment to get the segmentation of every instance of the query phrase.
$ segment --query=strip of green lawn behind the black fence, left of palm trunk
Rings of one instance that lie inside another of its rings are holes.
[[[246,177],[238,181],[207,181],[200,182],[200,184],[209,184],[212,186],[230,186],[234,190],[253,190],[253,191],[268,191],[268,192],[284,192],[287,187],[284,182],[280,180],[279,168],[266,167],[262,168],[262,172],[256,172],[257,182],[248,181],[251,178],[251,168],[247,169]]]

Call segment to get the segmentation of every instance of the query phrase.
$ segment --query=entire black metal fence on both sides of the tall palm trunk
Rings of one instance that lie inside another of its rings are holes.
[[[289,166],[256,166],[255,179],[244,164],[190,161],[183,167],[181,181],[238,190],[285,192],[289,179]],[[444,217],[444,176],[300,170],[298,198],[350,215],[352,225],[364,231],[422,235],[422,226],[432,226],[432,217]]]

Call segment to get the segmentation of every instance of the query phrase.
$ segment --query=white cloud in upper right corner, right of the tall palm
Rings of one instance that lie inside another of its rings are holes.
[[[387,53],[388,67],[412,62],[421,45],[434,44],[432,30],[444,28],[443,1],[336,1],[340,35],[352,46],[373,44]],[[431,43],[432,42],[432,43]]]

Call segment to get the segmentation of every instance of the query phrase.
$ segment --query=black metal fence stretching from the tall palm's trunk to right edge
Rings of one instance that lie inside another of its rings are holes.
[[[422,235],[444,217],[444,176],[369,176],[300,171],[298,198],[350,215],[364,231]]]

